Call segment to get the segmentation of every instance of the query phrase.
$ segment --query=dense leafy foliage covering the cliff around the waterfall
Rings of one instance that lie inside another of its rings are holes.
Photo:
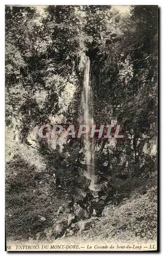
[[[94,122],[116,120],[124,135],[114,146],[96,139],[97,173],[100,179],[111,178],[114,204],[136,195],[136,187],[145,194],[116,206],[113,216],[101,222],[106,227],[101,236],[129,239],[133,227],[134,236],[155,238],[156,196],[147,188],[154,185],[149,180],[157,164],[157,11],[156,6],[132,6],[122,15],[111,6],[47,6],[40,14],[33,7],[6,7],[9,237],[28,239],[43,231],[61,199],[77,198],[77,189],[85,189],[82,141],[68,138],[52,146],[34,130],[42,124],[79,123],[87,55]],[[98,232],[99,226],[93,236]]]

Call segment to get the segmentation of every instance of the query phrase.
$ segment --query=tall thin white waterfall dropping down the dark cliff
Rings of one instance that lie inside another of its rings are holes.
[[[90,127],[93,124],[93,102],[92,102],[92,88],[90,87],[90,59],[85,55],[85,69],[84,69],[84,82],[82,92],[82,110],[83,122]],[[83,139],[85,162],[87,165],[86,177],[91,180],[89,188],[94,190],[95,187],[95,164],[94,164],[94,142],[93,138],[89,138],[87,133]]]

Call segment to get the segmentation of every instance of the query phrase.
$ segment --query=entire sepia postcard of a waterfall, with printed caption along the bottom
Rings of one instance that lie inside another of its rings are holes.
[[[5,6],[7,251],[157,251],[158,6]]]

